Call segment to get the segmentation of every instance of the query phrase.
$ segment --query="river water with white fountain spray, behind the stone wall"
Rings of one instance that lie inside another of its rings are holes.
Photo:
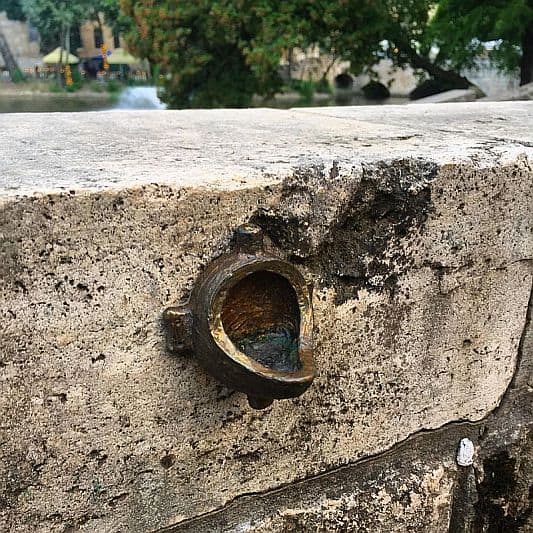
[[[361,95],[325,96],[317,99],[315,106],[328,105],[371,105],[371,104],[402,104],[407,98],[388,98],[387,100],[368,100]],[[287,109],[301,103],[298,96],[285,95],[281,99],[271,102],[258,102],[261,107],[276,107]],[[102,94],[21,94],[3,95],[0,93],[0,113],[46,113],[63,111],[104,111],[110,109],[165,109],[166,106],[157,97],[155,87],[128,87],[119,96],[118,101],[112,102],[109,96]]]

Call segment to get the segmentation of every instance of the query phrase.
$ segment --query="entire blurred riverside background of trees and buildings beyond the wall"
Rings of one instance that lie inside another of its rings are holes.
[[[527,99],[532,81],[533,0],[0,0],[4,113]]]

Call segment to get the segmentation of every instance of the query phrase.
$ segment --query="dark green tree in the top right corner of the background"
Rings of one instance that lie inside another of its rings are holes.
[[[428,36],[439,47],[436,61],[455,69],[475,68],[483,41],[497,40],[493,64],[533,82],[533,0],[441,0]]]

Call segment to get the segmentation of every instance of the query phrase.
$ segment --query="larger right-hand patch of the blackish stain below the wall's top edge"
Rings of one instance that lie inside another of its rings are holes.
[[[429,182],[435,174],[435,165],[411,160],[363,167],[345,218],[320,253],[321,271],[341,281],[338,303],[355,297],[361,288],[395,292],[409,258],[391,245],[427,219]]]

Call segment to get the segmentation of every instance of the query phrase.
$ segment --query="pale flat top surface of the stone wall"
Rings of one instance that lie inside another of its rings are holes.
[[[529,103],[0,117],[2,197],[157,183],[222,189],[281,182],[299,165],[401,157],[494,162],[524,152]],[[317,119],[316,114],[324,118]],[[328,118],[325,118],[328,117]],[[507,142],[504,142],[507,141]],[[487,146],[496,145],[495,151]],[[526,146],[527,148],[527,146]]]

